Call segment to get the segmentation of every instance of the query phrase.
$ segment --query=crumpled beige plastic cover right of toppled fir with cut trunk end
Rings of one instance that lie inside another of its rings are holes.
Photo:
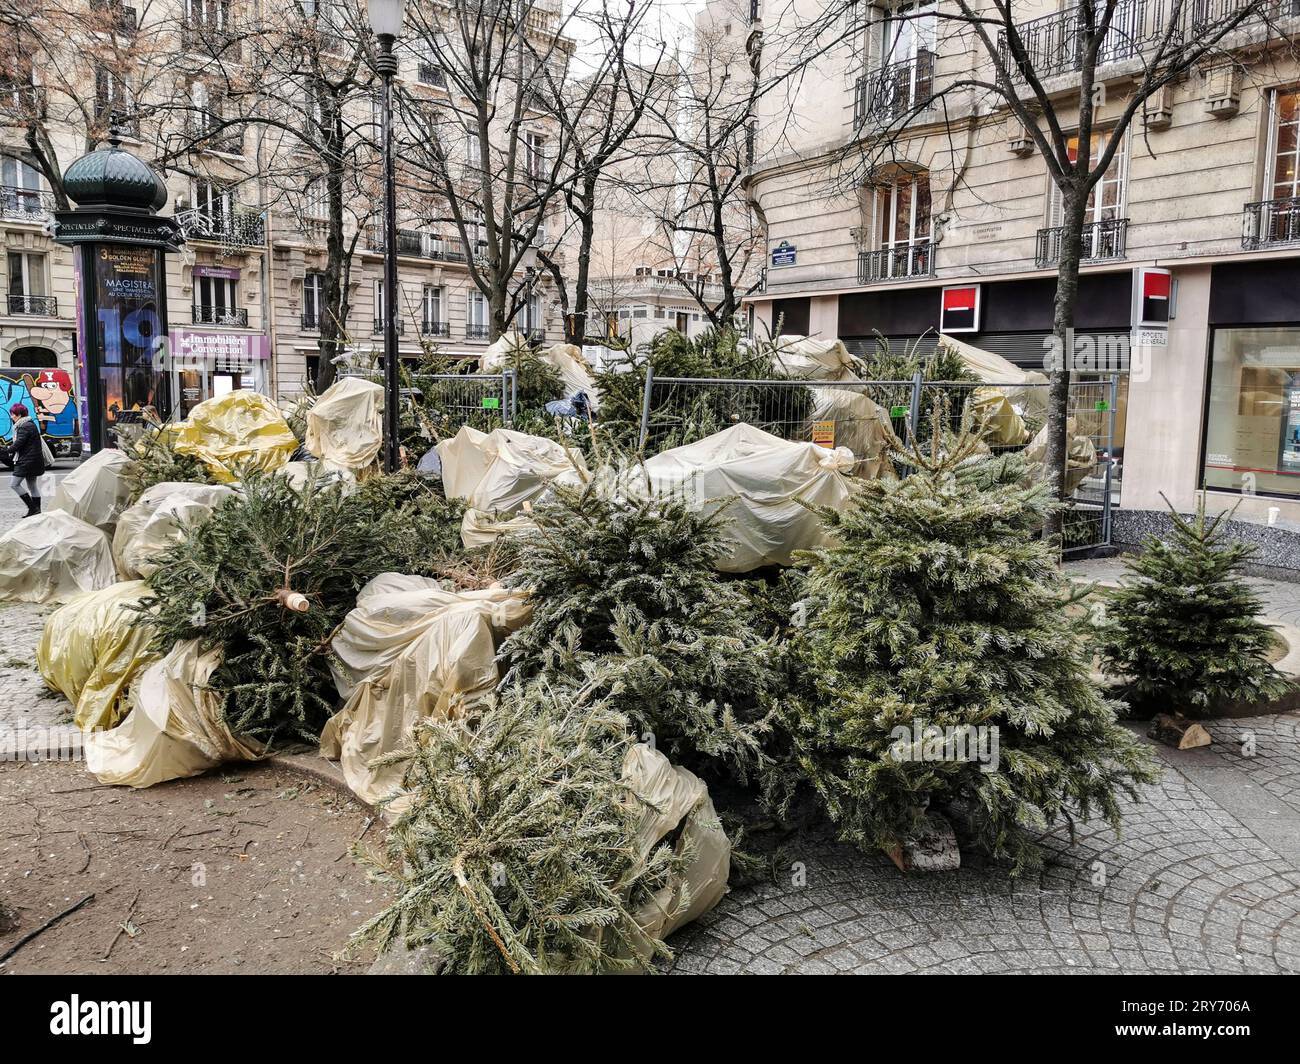
[[[458,718],[491,693],[497,646],[529,615],[521,592],[458,592],[422,576],[376,576],[334,636],[332,667],[346,702],[321,731],[321,756],[338,758],[363,801],[398,793],[406,766],[376,762],[407,745],[417,721]]]

